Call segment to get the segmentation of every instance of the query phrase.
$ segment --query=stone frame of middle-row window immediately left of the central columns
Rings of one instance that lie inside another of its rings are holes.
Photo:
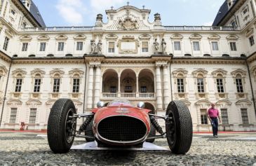
[[[72,99],[78,99],[81,95],[81,83],[82,83],[82,77],[84,72],[80,69],[73,69],[72,71],[69,71],[69,77],[70,77],[70,93]],[[73,83],[74,78],[79,78],[79,92],[73,92]]]

